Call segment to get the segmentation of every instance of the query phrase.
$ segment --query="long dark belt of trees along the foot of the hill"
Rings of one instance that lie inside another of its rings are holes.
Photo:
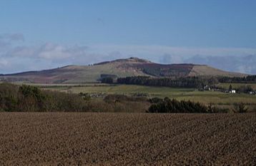
[[[256,83],[256,76],[221,77],[221,76],[188,76],[188,77],[162,77],[129,76],[124,78],[102,78],[102,83],[118,83],[149,86],[167,86],[172,88],[203,88],[205,85],[215,87],[217,83]],[[247,88],[247,87],[245,87]],[[241,91],[245,91],[241,89]]]

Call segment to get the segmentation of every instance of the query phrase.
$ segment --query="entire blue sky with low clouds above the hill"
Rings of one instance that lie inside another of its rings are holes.
[[[135,56],[256,74],[256,1],[0,0],[0,73]]]

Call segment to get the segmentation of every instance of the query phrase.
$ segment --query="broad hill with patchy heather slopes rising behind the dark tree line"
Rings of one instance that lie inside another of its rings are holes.
[[[64,66],[44,71],[28,71],[1,75],[0,81],[26,81],[29,83],[89,83],[105,76],[246,76],[242,73],[221,71],[205,65],[159,64],[140,58],[117,59],[90,66]]]

